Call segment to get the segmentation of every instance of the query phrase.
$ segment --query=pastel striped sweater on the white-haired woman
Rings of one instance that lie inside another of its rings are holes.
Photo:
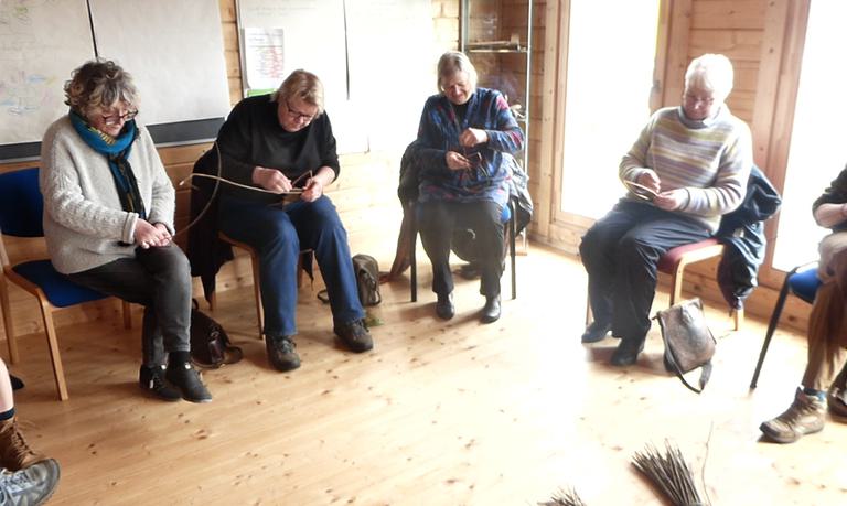
[[[676,212],[715,233],[720,217],[741,204],[752,164],[750,129],[729,107],[703,121],[686,118],[682,107],[666,107],[623,157],[619,176],[634,182],[652,170],[662,191],[685,189],[689,200]]]

